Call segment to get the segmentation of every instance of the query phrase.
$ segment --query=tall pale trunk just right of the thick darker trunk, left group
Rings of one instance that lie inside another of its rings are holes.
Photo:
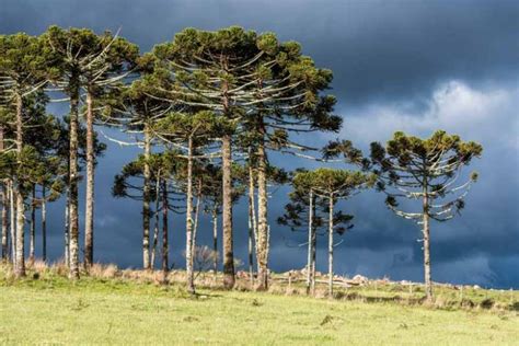
[[[86,193],[84,210],[84,268],[94,261],[94,114],[92,108],[92,90],[86,90]]]

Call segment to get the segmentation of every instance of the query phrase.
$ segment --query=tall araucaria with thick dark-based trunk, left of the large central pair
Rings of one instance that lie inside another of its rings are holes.
[[[211,111],[229,120],[242,118],[251,102],[245,67],[257,60],[256,34],[239,27],[218,32],[186,28],[172,43],[155,46],[161,97],[188,107]],[[232,245],[232,138],[221,137],[224,286],[234,286]]]

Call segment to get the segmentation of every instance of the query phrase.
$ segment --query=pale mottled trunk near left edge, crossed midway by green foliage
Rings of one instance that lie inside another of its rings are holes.
[[[16,164],[22,168],[23,150],[23,119],[22,119],[22,96],[16,95]],[[14,276],[20,278],[25,276],[25,205],[22,194],[22,181],[16,177],[15,184],[16,197],[16,260],[14,265]]]

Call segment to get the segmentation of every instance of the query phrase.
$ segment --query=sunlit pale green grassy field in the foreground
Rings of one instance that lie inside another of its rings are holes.
[[[0,344],[517,345],[519,314],[0,270]]]

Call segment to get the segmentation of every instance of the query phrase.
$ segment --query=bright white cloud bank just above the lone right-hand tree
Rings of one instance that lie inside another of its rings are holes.
[[[370,104],[346,114],[342,136],[358,145],[384,141],[396,130],[429,136],[436,129],[462,139],[519,150],[519,88],[476,90],[452,80],[439,85],[425,109],[411,113],[408,104]]]

